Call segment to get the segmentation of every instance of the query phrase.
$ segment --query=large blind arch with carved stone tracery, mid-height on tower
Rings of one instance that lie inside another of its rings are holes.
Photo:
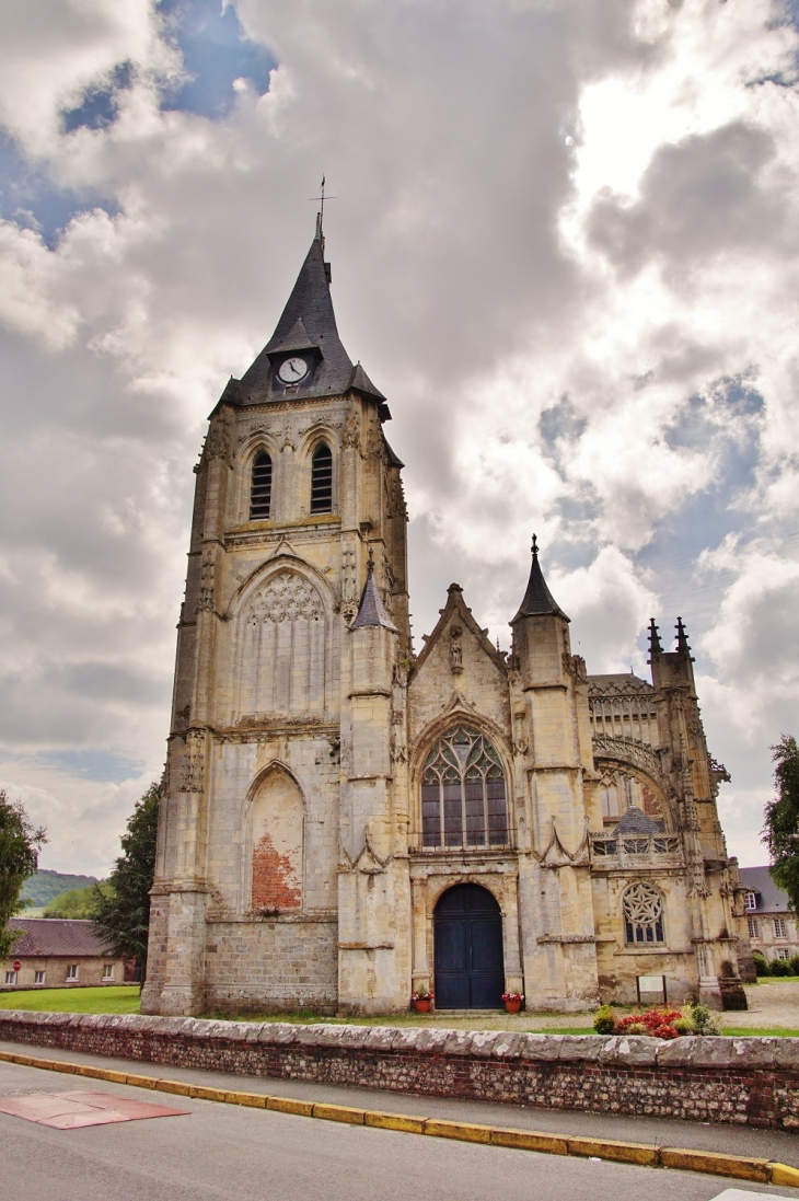
[[[273,575],[239,628],[239,713],[322,713],[327,622],[314,585],[297,572]]]

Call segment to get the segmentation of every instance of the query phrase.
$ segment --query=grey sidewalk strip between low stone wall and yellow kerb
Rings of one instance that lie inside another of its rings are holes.
[[[145,1063],[138,1059],[112,1059],[81,1051],[62,1051],[56,1047],[36,1047],[29,1042],[0,1041],[0,1050],[70,1063],[94,1064],[119,1071],[137,1072],[142,1076],[168,1077],[169,1080],[215,1088],[269,1093],[333,1105],[380,1109],[393,1113],[445,1118],[451,1122],[507,1125],[550,1134],[658,1143],[739,1157],[762,1157],[799,1167],[799,1131],[787,1134],[779,1130],[756,1130],[751,1127],[726,1123],[704,1124],[669,1118],[614,1117],[612,1115],[580,1113],[576,1110],[502,1105],[495,1101],[479,1103],[418,1097],[381,1088],[348,1088],[298,1080],[239,1076],[222,1071],[177,1068],[172,1064]]]

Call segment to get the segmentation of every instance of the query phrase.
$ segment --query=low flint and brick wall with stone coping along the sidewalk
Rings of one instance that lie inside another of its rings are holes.
[[[664,1042],[6,1010],[0,1040],[428,1097],[799,1130],[799,1039]]]

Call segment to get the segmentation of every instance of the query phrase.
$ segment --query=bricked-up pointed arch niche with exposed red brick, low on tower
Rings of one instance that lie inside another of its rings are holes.
[[[281,767],[274,767],[252,800],[250,908],[276,914],[303,906],[303,797]]]

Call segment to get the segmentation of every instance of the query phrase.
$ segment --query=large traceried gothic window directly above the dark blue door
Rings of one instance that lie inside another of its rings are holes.
[[[458,725],[439,739],[422,772],[424,847],[506,847],[505,772],[479,730]]]

